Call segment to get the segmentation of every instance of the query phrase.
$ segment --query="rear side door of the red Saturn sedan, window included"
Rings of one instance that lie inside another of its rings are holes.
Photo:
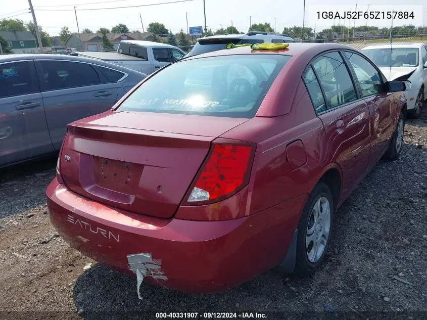
[[[370,152],[367,104],[360,99],[338,51],[315,58],[304,74],[304,81],[323,123],[331,161],[342,169],[343,195],[348,195],[367,171]]]

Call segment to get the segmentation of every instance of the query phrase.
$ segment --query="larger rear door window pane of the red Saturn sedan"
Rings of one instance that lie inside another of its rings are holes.
[[[338,52],[324,54],[313,61],[325,93],[327,108],[336,108],[357,99],[350,74]]]

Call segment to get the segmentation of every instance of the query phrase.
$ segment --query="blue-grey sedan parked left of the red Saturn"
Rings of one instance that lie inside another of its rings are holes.
[[[0,56],[0,167],[58,152],[67,123],[110,109],[146,76],[79,57]]]

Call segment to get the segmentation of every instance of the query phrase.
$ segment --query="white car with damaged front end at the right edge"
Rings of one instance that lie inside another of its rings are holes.
[[[408,113],[418,118],[427,98],[427,45],[425,43],[369,45],[362,52],[383,72],[387,80],[408,80],[405,92]]]

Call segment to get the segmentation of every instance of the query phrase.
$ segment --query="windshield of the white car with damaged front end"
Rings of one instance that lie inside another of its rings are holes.
[[[417,48],[381,48],[362,52],[378,67],[416,67],[418,66]]]

